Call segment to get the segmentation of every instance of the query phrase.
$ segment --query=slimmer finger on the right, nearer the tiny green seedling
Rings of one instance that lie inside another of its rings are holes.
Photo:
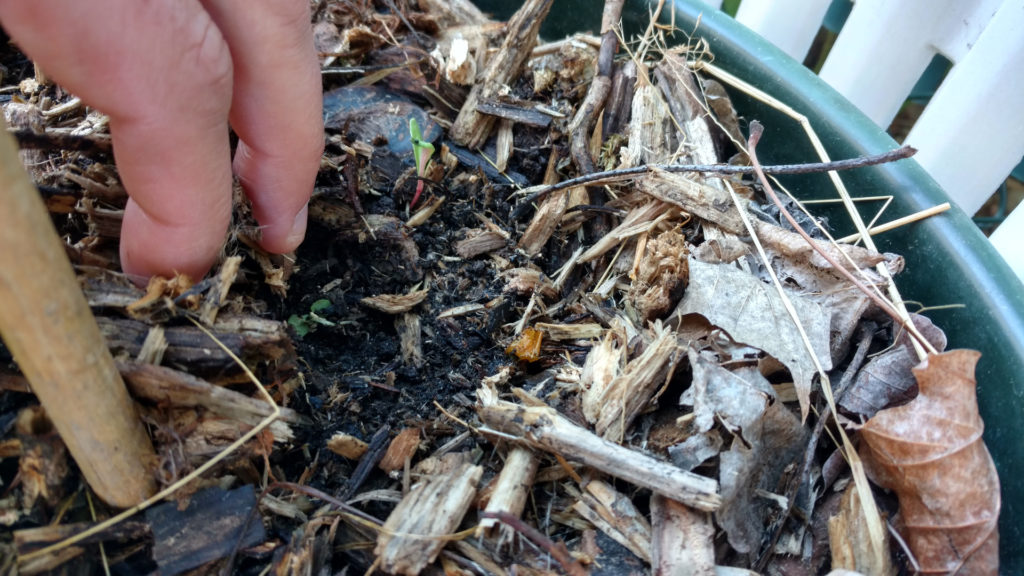
[[[234,172],[253,203],[261,245],[302,241],[324,152],[323,90],[305,0],[204,0],[231,47],[239,135]]]

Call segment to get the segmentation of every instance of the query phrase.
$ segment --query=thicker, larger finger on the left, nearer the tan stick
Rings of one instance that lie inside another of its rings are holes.
[[[198,0],[0,1],[8,34],[110,116],[125,272],[203,276],[230,216],[231,60]]]

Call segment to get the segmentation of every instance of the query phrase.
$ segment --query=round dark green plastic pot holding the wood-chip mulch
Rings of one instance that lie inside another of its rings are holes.
[[[507,17],[521,2],[492,0],[489,5],[487,1],[479,4],[498,17]],[[542,34],[558,38],[575,31],[596,32],[602,5],[601,0],[555,0]],[[646,2],[627,1],[624,22],[628,34],[643,29],[648,7]],[[671,4],[665,7],[665,11],[670,9]],[[806,115],[833,159],[897,148],[883,129],[830,86],[731,17],[696,0],[676,0],[675,12],[676,27],[687,32],[695,30],[696,36],[707,40],[717,66]],[[762,162],[782,164],[816,158],[802,128],[793,120],[742,94],[730,93],[743,119],[760,120],[766,127],[758,149]],[[948,201],[938,183],[913,160],[843,172],[842,178],[854,197],[895,197],[884,221]],[[791,176],[783,181],[801,199],[823,197],[834,190],[822,175]],[[877,204],[868,204],[862,216],[869,218],[870,211],[877,208]],[[830,222],[840,236],[853,232],[848,215],[840,211],[826,215],[831,216]],[[927,312],[945,330],[948,347],[973,348],[982,354],[977,369],[978,402],[985,420],[985,443],[1002,487],[1000,573],[1022,574],[1024,285],[969,215],[955,207],[926,221],[880,235],[876,242],[880,250],[905,256],[906,269],[897,277],[904,298],[926,306],[959,305]]]

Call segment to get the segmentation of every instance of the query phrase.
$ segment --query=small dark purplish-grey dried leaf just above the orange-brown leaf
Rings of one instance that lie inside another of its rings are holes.
[[[935,349],[946,349],[946,335],[931,320],[918,315],[911,319]],[[892,348],[861,368],[850,390],[840,400],[840,407],[870,418],[879,410],[909,402],[918,396],[918,381],[910,372],[916,364],[918,354],[906,332],[902,332]]]

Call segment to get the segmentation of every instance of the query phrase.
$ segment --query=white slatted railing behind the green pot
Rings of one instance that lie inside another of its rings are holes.
[[[741,0],[736,19],[803,60],[830,3]],[[1024,157],[1024,0],[856,0],[820,77],[886,127],[935,54],[953,66],[905,142],[974,214]],[[1024,206],[991,241],[1024,280]]]

